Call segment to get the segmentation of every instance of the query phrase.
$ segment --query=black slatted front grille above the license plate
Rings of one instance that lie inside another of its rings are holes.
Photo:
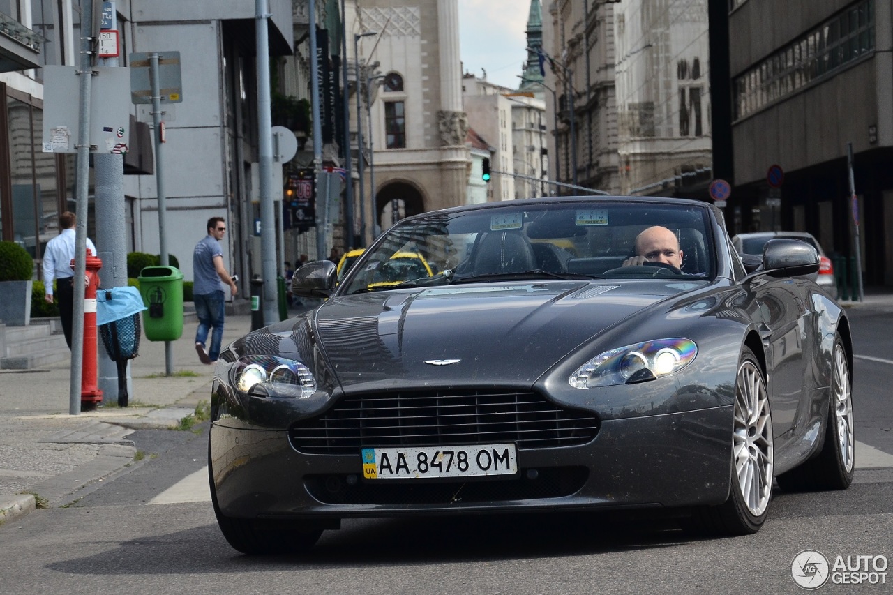
[[[568,447],[596,437],[591,413],[532,392],[407,391],[351,395],[325,414],[292,425],[306,454],[359,455],[359,448],[514,442],[520,450]]]

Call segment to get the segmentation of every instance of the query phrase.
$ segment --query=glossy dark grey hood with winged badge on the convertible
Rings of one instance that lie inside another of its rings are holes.
[[[532,384],[581,343],[703,282],[550,281],[332,298],[318,342],[342,387]],[[621,346],[612,346],[621,347]]]

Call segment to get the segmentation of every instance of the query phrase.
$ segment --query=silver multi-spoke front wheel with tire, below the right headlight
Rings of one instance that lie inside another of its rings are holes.
[[[697,507],[682,528],[697,535],[747,535],[760,530],[772,500],[772,410],[763,368],[750,348],[741,352],[735,381],[729,499]]]

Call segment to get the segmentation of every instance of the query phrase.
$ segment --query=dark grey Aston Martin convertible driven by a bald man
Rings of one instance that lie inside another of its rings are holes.
[[[638,254],[655,229],[670,263]],[[853,478],[852,339],[818,266],[792,239],[739,256],[722,212],[683,199],[406,218],[339,283],[299,268],[292,292],[321,306],[222,351],[221,531],[280,553],[346,518],[639,508],[756,532],[773,485]]]

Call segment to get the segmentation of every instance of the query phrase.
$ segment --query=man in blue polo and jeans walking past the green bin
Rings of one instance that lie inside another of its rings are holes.
[[[192,298],[198,315],[196,330],[196,352],[202,364],[212,364],[220,356],[223,341],[223,316],[225,286],[230,286],[232,295],[238,293],[236,281],[223,267],[223,250],[220,240],[226,232],[226,222],[222,217],[212,217],[207,224],[208,235],[196,244],[192,253]],[[211,348],[204,350],[204,343],[211,335]]]

